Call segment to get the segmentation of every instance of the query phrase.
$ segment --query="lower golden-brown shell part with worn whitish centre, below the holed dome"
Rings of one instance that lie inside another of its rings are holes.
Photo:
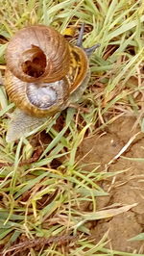
[[[28,115],[43,117],[64,109],[69,96],[66,78],[53,83],[27,83],[12,75],[7,69],[6,90],[16,107]]]

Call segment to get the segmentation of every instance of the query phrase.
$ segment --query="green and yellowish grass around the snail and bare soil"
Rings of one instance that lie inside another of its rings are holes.
[[[85,136],[104,131],[122,115],[137,116],[143,129],[143,1],[1,0],[0,20],[1,78],[7,40],[26,25],[52,25],[63,34],[67,27],[75,26],[76,35],[71,38],[75,42],[84,22],[84,47],[101,43],[91,57],[91,81],[81,100],[89,111],[69,108],[55,116],[45,129],[46,142],[40,137],[42,128],[27,139],[6,142],[7,113],[13,104],[5,88],[0,88],[0,246],[5,253],[20,253],[13,245],[20,243],[33,256],[141,255],[106,248],[108,234],[94,243],[90,221],[108,215],[107,210],[97,212],[97,196],[107,195],[97,182],[117,173],[100,173],[98,163],[91,172],[86,171],[80,165],[78,149]],[[91,205],[88,217],[84,204]],[[119,208],[118,213],[125,210]]]

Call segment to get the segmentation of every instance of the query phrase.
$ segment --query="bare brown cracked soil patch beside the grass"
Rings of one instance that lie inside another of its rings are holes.
[[[107,178],[100,183],[108,196],[97,197],[97,210],[105,210],[114,205],[124,206],[137,203],[137,206],[113,218],[95,221],[91,235],[98,243],[108,231],[106,247],[125,252],[144,253],[143,241],[130,242],[132,237],[144,232],[144,164],[127,158],[144,159],[144,133],[134,124],[134,117],[121,117],[108,126],[102,135],[84,139],[79,150],[81,164],[89,171],[100,164],[97,171],[125,172]],[[133,129],[134,128],[134,129]],[[135,134],[127,150],[115,161],[110,162]],[[108,163],[111,164],[108,164]]]

